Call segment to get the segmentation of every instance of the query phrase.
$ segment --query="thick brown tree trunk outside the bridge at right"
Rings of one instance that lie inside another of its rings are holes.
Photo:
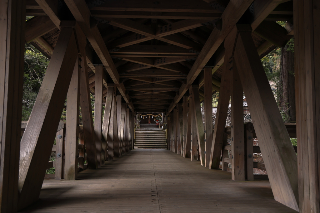
[[[284,111],[284,122],[296,121],[294,92],[294,53],[288,51],[288,45],[281,49],[280,80],[278,85],[279,108]]]

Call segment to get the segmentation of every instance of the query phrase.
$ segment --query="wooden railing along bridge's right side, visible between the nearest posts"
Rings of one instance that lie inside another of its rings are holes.
[[[285,123],[286,129],[289,133],[290,138],[296,138],[296,124],[295,123]],[[244,124],[244,145],[246,150],[245,155],[245,165],[246,165],[246,179],[250,174],[253,175],[253,168],[258,168],[261,170],[266,171],[266,167],[264,162],[254,162],[253,153],[261,153],[259,146],[253,146],[252,140],[253,138],[257,138],[256,133],[254,131],[254,127],[252,123],[245,123]],[[231,145],[228,145],[228,139],[231,138],[231,126],[226,126],[225,128],[225,135],[223,138],[223,145],[222,145],[222,157],[220,161],[222,161],[222,165],[219,165],[219,168],[231,172],[231,168],[228,168],[228,164],[232,166],[232,159],[228,157],[228,151],[231,150]],[[297,147],[293,147],[295,152],[297,153]],[[248,157],[249,156],[249,157]],[[252,159],[249,159],[252,158]],[[252,164],[249,163],[252,162]],[[253,177],[253,176],[252,176]],[[254,179],[268,179],[267,175],[254,175]]]

